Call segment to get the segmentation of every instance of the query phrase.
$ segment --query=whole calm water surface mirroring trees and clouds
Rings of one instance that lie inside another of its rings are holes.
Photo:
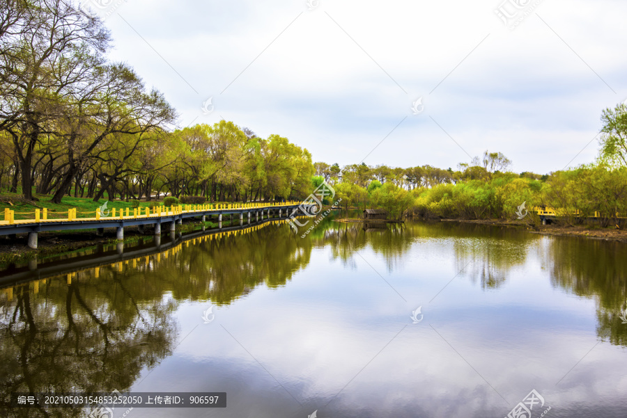
[[[626,245],[376,226],[266,223],[0,289],[0,416],[117,389],[226,392],[131,418],[627,417]]]

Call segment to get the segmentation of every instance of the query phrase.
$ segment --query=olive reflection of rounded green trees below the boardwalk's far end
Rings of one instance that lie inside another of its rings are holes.
[[[309,264],[310,255],[309,239],[295,238],[288,225],[269,223],[254,234],[223,232],[187,241],[144,259],[128,274],[134,285],[171,291],[177,300],[212,300],[222,305],[259,284],[286,284]]]

